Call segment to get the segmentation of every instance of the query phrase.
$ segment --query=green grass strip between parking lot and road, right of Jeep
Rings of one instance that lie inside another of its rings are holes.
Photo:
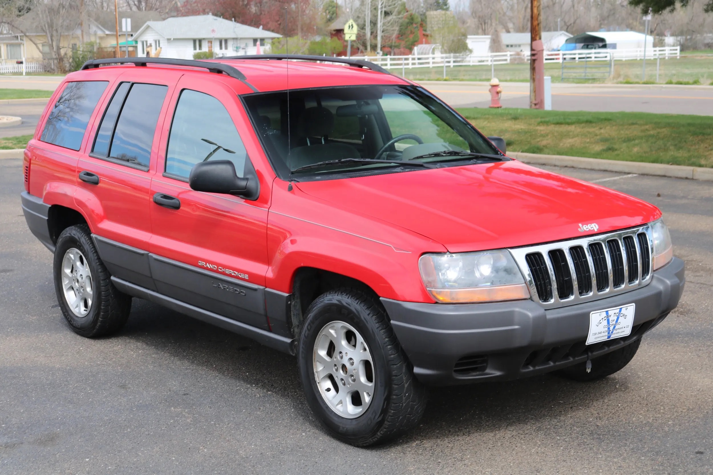
[[[713,167],[713,116],[462,108],[508,150]]]

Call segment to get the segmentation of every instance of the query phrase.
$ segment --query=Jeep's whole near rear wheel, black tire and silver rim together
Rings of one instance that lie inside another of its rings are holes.
[[[131,297],[110,277],[86,225],[62,231],[54,252],[54,286],[62,314],[77,334],[101,337],[117,332],[128,319]]]

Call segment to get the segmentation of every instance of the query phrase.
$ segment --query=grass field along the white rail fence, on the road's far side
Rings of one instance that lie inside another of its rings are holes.
[[[602,64],[603,62],[597,61]],[[605,63],[603,63],[605,64]],[[614,72],[608,79],[596,81],[573,81],[565,82],[639,82],[643,61],[615,61]],[[392,68],[391,73],[401,76],[401,68]],[[500,81],[530,81],[530,65],[520,64],[496,64],[495,76]],[[545,76],[550,76],[553,83],[562,82],[562,65],[560,63],[545,63]],[[443,67],[434,68],[406,68],[406,78],[414,81],[443,80]],[[490,66],[453,66],[446,67],[446,80],[450,81],[490,81]],[[666,81],[698,81],[701,84],[709,84],[713,81],[713,56],[699,56],[696,58],[681,56],[681,58],[661,59],[659,61],[659,82]],[[646,60],[646,82],[656,81],[656,60]]]

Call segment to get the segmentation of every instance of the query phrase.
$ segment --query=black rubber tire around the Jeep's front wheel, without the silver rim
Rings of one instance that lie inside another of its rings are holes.
[[[334,321],[352,325],[361,334],[374,362],[374,394],[364,413],[355,419],[342,417],[327,405],[314,377],[314,344],[322,328]],[[371,295],[344,288],[317,297],[307,309],[298,344],[299,374],[307,403],[337,439],[354,446],[377,444],[404,434],[424,414],[426,388],[414,377],[384,307]]]

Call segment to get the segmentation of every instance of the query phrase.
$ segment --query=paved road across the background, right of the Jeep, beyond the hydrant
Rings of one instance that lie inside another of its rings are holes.
[[[488,107],[487,83],[421,81],[453,107]],[[503,83],[503,107],[528,108],[529,83]],[[553,84],[555,111],[627,111],[713,115],[713,87],[628,84]]]

